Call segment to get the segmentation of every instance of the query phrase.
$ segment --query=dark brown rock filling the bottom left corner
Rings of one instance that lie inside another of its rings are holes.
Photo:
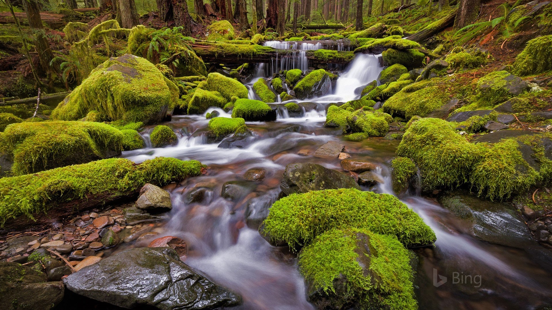
[[[60,282],[18,263],[0,263],[0,309],[49,310],[63,299]]]

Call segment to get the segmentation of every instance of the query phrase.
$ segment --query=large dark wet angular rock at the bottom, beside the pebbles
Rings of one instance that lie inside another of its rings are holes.
[[[79,295],[124,308],[215,309],[241,301],[182,263],[171,248],[125,250],[63,282]]]

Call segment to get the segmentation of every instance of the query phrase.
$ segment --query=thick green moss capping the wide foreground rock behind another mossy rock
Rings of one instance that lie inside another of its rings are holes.
[[[291,194],[274,202],[263,223],[265,233],[290,247],[308,244],[330,229],[349,227],[396,236],[406,245],[436,239],[420,216],[395,196],[357,189]]]

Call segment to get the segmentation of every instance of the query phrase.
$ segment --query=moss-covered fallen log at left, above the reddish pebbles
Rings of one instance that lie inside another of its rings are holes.
[[[137,195],[144,184],[163,186],[201,173],[198,161],[158,157],[135,164],[110,158],[0,179],[0,221],[17,228]]]

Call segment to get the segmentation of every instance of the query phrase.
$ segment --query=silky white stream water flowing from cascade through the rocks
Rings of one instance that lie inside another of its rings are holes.
[[[287,46],[297,49],[298,53],[293,59],[260,66],[256,78],[269,77],[270,72],[282,69],[305,70],[307,61],[301,58],[301,49],[321,46],[309,43],[298,47],[289,42],[267,42],[267,45]],[[167,156],[196,159],[209,165],[207,174],[169,188],[173,210],[167,216],[163,235],[186,240],[190,249],[186,263],[217,284],[239,293],[243,304],[238,309],[313,309],[306,300],[295,254],[269,245],[246,217],[257,215],[256,206],[270,205],[277,199],[287,164],[314,162],[341,170],[337,159],[312,156],[323,143],[341,139],[339,130],[322,126],[325,107],[329,103],[357,99],[355,89],[376,79],[381,69],[377,55],[358,55],[341,72],[331,94],[305,100],[316,102],[316,109],[305,111],[301,117],[279,113],[274,122],[247,122],[254,137],[242,148],[208,144],[205,138],[208,120],[204,115],[189,115],[173,116],[167,123],[177,132],[178,145],[151,148],[148,144],[144,149],[124,152],[123,157],[135,162]],[[253,96],[250,92],[250,97]],[[211,108],[208,112],[213,110],[219,111],[220,116],[230,117],[221,109]],[[142,133],[145,140],[149,131]],[[363,189],[394,194],[387,167],[399,142],[369,138],[343,143],[352,159],[380,165],[377,173],[385,180],[384,184]],[[266,169],[266,177],[233,201],[221,197],[225,182],[243,180],[243,174],[251,168]],[[202,193],[203,200],[192,202],[197,201],[193,199],[197,193]],[[434,200],[413,195],[403,201],[437,234],[434,249],[416,249],[420,259],[415,281],[420,309],[537,309],[550,302],[550,269],[546,271],[535,264],[528,251],[477,240],[466,232],[464,220]],[[439,285],[444,277],[447,282]]]

